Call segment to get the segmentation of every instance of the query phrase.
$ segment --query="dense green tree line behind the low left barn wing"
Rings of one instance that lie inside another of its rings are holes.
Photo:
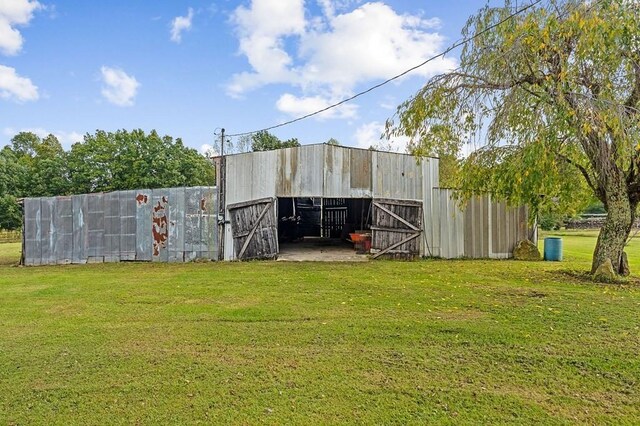
[[[22,226],[20,198],[214,184],[208,159],[155,130],[98,130],[68,151],[20,132],[0,150],[0,229]]]

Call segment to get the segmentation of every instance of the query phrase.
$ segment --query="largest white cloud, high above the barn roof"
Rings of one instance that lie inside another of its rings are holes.
[[[232,21],[251,70],[232,77],[229,95],[288,84],[300,93],[283,95],[277,107],[292,115],[311,112],[308,105],[344,99],[359,85],[397,75],[444,47],[438,19],[398,14],[382,2],[353,9],[359,1],[317,1],[321,16],[305,17],[304,0],[277,2],[275,10],[274,2],[252,0],[250,7],[236,9]],[[411,75],[430,77],[455,66],[455,60],[440,58]]]

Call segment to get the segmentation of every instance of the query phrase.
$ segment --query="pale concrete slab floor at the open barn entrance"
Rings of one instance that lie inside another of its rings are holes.
[[[281,243],[278,261],[284,262],[367,262],[366,254],[356,254],[353,244],[338,239],[306,237],[296,243]]]

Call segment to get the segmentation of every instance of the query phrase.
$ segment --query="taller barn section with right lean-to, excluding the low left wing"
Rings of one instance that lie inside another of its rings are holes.
[[[289,217],[305,237],[370,232],[373,257],[507,258],[529,238],[525,207],[485,195],[460,209],[437,158],[319,144],[216,162],[224,260],[277,257]]]

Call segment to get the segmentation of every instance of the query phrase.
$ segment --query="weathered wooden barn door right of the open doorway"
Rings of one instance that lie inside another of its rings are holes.
[[[420,255],[422,202],[373,200],[373,258],[414,259]]]

